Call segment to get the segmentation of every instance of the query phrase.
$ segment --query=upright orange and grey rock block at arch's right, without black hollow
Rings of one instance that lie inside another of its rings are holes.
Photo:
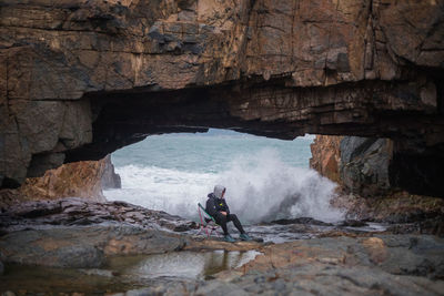
[[[390,192],[392,141],[319,135],[311,150],[311,167],[340,183],[346,192],[361,196],[377,196]]]

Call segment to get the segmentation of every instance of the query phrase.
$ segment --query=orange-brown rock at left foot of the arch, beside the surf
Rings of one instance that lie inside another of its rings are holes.
[[[29,177],[17,190],[0,191],[0,208],[24,201],[84,197],[103,202],[102,190],[120,187],[120,176],[114,173],[111,157],[63,164],[49,170],[41,177]]]

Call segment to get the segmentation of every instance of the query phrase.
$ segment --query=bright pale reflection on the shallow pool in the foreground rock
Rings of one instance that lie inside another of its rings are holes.
[[[254,259],[259,252],[226,252],[214,251],[205,253],[179,252],[152,255],[124,274],[140,278],[180,277],[205,278],[222,271],[238,268]]]

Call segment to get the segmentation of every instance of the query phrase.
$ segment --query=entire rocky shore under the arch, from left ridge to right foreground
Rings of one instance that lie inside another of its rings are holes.
[[[336,225],[311,218],[278,221],[271,225],[286,227],[280,232],[305,229],[314,238],[283,244],[230,244],[220,237],[205,239],[196,223],[163,212],[122,202],[63,198],[11,207],[0,215],[0,262],[6,265],[0,290],[18,295],[23,290],[49,293],[51,280],[57,290],[71,294],[125,295],[440,295],[444,288],[443,238],[359,231],[360,224],[353,221]],[[252,225],[248,229],[265,226]],[[228,253],[211,253],[218,249]],[[200,254],[211,253],[209,258],[222,262],[233,252],[239,256],[253,249],[259,255],[241,266],[221,263],[214,269],[218,273],[204,278],[174,276],[174,269],[196,265],[193,258]],[[172,266],[185,266],[171,268],[168,277],[143,277],[147,272],[141,273],[140,268],[154,268],[149,265],[152,256],[158,256],[158,264],[173,256],[179,262]],[[115,258],[127,267],[110,264]],[[36,285],[32,278],[20,278],[23,271],[51,276],[47,284]],[[70,280],[59,278],[63,276]],[[80,285],[75,289],[75,280],[84,280],[84,288]]]

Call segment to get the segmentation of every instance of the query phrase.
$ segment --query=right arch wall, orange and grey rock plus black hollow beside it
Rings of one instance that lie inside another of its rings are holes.
[[[443,156],[412,153],[390,139],[317,135],[311,144],[310,166],[363,197],[412,194],[444,196]]]

